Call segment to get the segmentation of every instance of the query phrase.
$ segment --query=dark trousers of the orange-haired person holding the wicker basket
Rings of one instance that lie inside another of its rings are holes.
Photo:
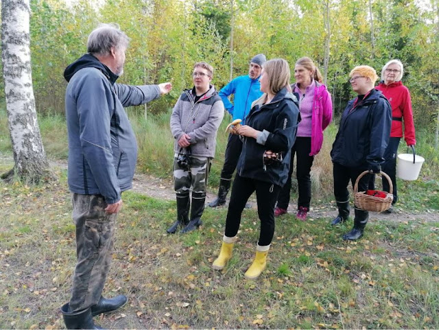
[[[352,187],[358,176],[364,172],[365,168],[346,167],[337,163],[333,163],[334,177],[334,196],[335,201],[344,202],[349,200],[348,184],[351,181]],[[368,189],[368,181],[371,174],[366,174],[358,182],[358,191],[366,191]]]

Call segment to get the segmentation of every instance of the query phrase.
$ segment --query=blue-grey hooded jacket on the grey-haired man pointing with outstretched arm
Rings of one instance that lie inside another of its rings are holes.
[[[91,54],[64,71],[70,191],[101,194],[108,204],[132,187],[137,141],[123,107],[160,96],[157,85],[116,84],[118,76]]]

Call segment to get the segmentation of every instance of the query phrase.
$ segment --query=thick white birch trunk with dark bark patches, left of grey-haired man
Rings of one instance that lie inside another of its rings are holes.
[[[36,119],[29,49],[29,0],[1,0],[1,59],[14,168],[2,178],[39,182],[49,164]]]

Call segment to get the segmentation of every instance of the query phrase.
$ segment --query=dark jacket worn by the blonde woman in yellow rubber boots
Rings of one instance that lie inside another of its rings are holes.
[[[255,104],[250,110],[246,124],[260,130],[258,139],[244,137],[237,173],[283,187],[287,181],[290,152],[296,141],[299,109],[297,99],[287,89],[282,89],[269,104]],[[283,161],[272,165],[263,164],[266,150],[282,152]]]

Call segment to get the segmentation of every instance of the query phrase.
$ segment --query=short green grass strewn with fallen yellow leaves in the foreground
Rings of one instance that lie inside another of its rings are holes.
[[[51,185],[0,184],[0,328],[62,328],[75,266],[75,227],[65,173]],[[204,225],[166,235],[175,202],[127,192],[117,220],[106,296],[126,294],[121,311],[97,318],[122,328],[439,327],[439,221],[370,222],[346,243],[327,218],[276,222],[268,267],[244,279],[259,236],[245,210],[233,258],[211,269],[226,209],[206,209]]]

